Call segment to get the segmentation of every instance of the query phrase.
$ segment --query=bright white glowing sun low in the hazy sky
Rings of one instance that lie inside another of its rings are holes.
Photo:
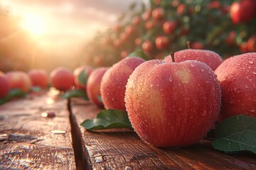
[[[36,13],[27,13],[21,20],[21,28],[34,36],[46,33],[46,22]]]

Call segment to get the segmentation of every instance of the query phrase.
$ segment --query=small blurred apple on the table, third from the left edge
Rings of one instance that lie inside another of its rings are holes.
[[[32,86],[39,86],[45,89],[48,84],[48,74],[45,69],[31,69],[28,72]]]

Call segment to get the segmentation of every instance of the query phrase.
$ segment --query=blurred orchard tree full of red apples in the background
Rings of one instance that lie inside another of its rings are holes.
[[[151,0],[150,7],[131,4],[115,26],[98,33],[82,60],[94,67],[110,66],[141,50],[150,59],[187,48],[208,49],[223,58],[256,51],[254,0]]]

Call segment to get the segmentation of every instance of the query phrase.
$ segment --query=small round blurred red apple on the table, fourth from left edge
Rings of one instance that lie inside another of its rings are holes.
[[[50,84],[60,91],[68,91],[74,85],[73,73],[65,67],[57,67],[50,72]]]

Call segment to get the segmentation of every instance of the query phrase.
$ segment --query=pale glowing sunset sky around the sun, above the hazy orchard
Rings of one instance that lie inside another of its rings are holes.
[[[46,50],[68,54],[117,21],[136,0],[1,0],[21,28]],[[138,0],[137,0],[138,1]],[[146,0],[139,0],[145,1]]]

